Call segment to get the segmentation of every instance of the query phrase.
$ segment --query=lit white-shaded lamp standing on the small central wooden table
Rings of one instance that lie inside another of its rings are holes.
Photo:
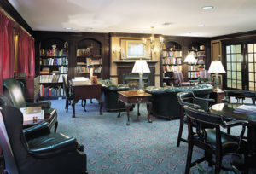
[[[150,73],[148,63],[145,60],[137,60],[132,68],[132,73],[139,73],[139,90],[143,89],[143,73]]]

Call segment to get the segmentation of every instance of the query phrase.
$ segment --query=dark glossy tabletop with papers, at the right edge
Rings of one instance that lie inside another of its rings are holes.
[[[256,114],[238,113],[234,108],[239,107],[241,104],[236,103],[219,103],[212,105],[210,113],[216,113],[224,116],[225,118],[236,120],[247,120],[249,123],[256,125]]]

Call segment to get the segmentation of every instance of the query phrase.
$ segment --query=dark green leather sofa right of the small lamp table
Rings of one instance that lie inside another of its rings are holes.
[[[177,119],[180,116],[180,105],[177,102],[177,93],[193,91],[195,96],[209,98],[213,87],[210,84],[198,84],[190,87],[155,87],[148,86],[146,92],[152,95],[152,113],[154,116],[165,119]],[[201,108],[208,107],[207,102],[197,102]]]

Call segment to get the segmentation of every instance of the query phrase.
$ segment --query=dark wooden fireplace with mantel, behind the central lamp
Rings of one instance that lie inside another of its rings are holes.
[[[138,73],[131,73],[135,61],[114,61],[117,64],[118,84],[130,84],[131,88],[138,86]],[[150,73],[143,73],[145,87],[154,86],[155,64],[157,61],[147,61]],[[137,87],[138,88],[138,87]]]

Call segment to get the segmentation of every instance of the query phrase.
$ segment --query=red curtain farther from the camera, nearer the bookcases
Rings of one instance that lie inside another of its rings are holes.
[[[26,76],[35,75],[35,47],[34,39],[26,32],[20,30],[18,41],[18,73],[26,73]]]

